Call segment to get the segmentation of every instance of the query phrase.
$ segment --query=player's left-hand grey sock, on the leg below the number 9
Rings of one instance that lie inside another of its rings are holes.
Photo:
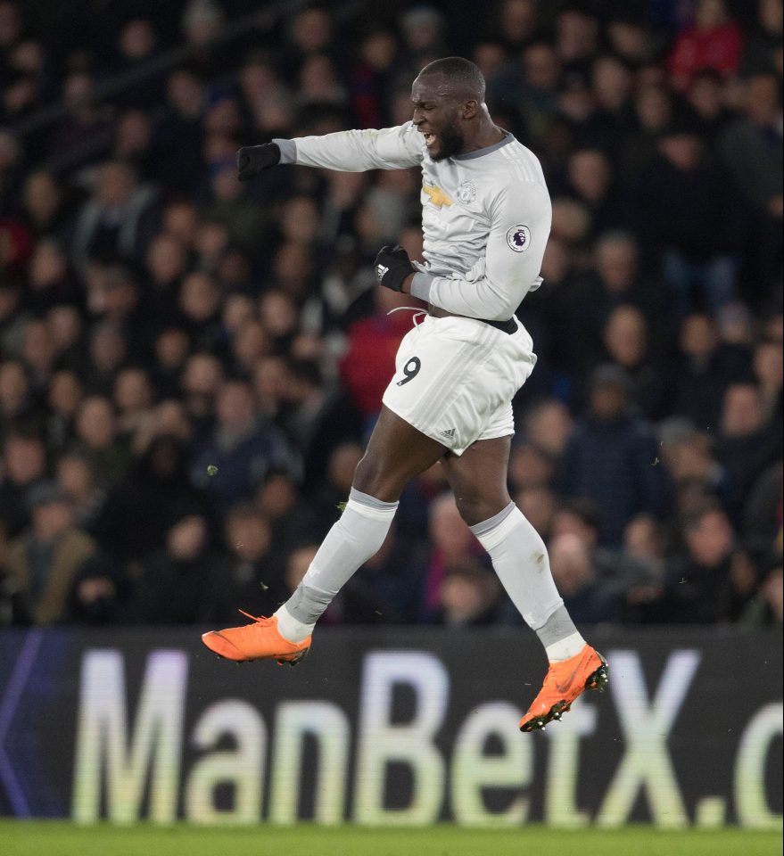
[[[327,532],[292,597],[275,613],[284,638],[301,642],[309,637],[343,585],[384,543],[397,508],[396,502],[351,490],[341,519]]]

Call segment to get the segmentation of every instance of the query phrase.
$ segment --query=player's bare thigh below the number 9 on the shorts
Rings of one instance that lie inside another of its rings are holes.
[[[433,466],[444,452],[441,443],[382,407],[354,473],[354,487],[383,502],[395,502],[409,481]]]

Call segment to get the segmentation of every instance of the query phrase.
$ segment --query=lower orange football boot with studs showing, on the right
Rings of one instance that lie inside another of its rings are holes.
[[[520,720],[520,730],[543,731],[549,721],[560,720],[586,689],[602,692],[607,687],[608,676],[607,660],[590,645],[583,646],[579,654],[568,660],[550,663],[539,695]]]

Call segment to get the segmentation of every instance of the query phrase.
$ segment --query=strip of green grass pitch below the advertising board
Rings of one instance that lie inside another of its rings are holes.
[[[780,856],[781,835],[650,827],[578,832],[357,827],[77,827],[0,822],[3,856]]]

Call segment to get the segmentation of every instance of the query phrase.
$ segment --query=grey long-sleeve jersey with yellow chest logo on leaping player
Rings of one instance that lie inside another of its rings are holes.
[[[362,172],[422,167],[425,265],[411,292],[456,315],[505,321],[541,284],[552,209],[541,165],[514,136],[433,161],[411,122],[275,140],[281,163]]]

